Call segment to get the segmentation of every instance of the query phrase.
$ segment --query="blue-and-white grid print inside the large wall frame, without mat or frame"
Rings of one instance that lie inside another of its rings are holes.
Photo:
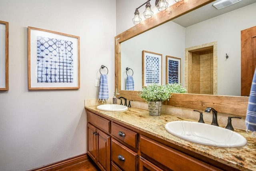
[[[37,36],[37,82],[73,83],[73,42]]]

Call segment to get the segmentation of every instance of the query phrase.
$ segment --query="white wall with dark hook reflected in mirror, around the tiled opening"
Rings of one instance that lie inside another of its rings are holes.
[[[256,26],[255,9],[256,3],[186,28],[186,48],[217,41],[218,95],[241,95],[240,33]]]

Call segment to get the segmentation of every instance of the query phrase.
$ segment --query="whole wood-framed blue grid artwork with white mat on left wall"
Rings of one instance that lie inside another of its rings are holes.
[[[28,89],[79,89],[80,38],[28,27]]]

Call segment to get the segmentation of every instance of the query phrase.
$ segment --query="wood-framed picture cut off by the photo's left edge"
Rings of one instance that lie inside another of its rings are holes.
[[[0,21],[0,90],[9,89],[9,23]]]

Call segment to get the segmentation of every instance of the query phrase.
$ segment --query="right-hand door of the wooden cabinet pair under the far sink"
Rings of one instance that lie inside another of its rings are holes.
[[[98,165],[101,170],[110,171],[110,136],[97,129]]]

